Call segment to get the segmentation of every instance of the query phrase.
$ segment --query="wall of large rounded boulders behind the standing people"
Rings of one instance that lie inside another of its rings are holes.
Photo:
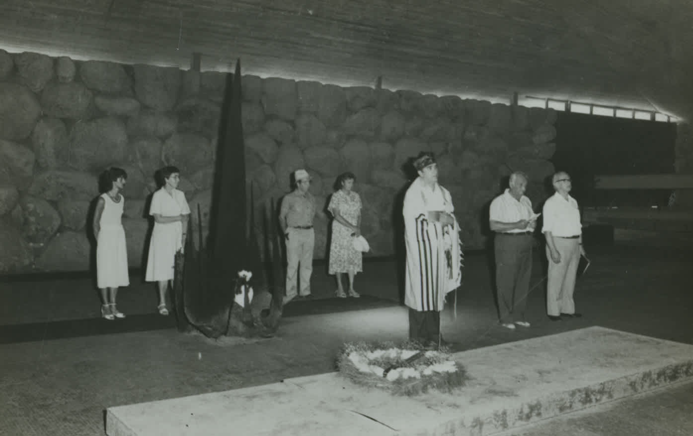
[[[87,217],[97,175],[110,165],[128,172],[131,266],[141,265],[148,243],[146,198],[163,165],[181,169],[193,221],[199,205],[207,229],[224,85],[223,73],[0,51],[0,272],[89,269]],[[289,174],[305,167],[321,206],[317,258],[326,253],[323,206],[340,172],[357,176],[362,231],[369,255],[380,256],[394,253],[403,163],[422,150],[439,158],[467,248],[484,247],[484,208],[503,176],[525,170],[538,202],[554,170],[552,110],[251,75],[243,76],[243,97],[258,210],[286,194]]]

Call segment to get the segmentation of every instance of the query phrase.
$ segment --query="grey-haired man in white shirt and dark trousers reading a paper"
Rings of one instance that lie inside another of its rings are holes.
[[[495,287],[500,325],[529,327],[525,320],[529,278],[532,275],[532,233],[539,214],[525,196],[527,175],[510,174],[509,188],[491,201],[489,224],[495,232]]]

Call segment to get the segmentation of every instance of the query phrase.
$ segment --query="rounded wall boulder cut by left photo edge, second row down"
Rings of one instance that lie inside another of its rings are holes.
[[[24,85],[0,83],[0,138],[28,138],[41,116],[41,105]]]

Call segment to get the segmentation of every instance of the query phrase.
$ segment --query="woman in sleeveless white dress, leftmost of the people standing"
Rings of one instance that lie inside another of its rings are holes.
[[[94,239],[96,239],[96,284],[101,293],[101,316],[107,320],[125,318],[116,308],[118,288],[128,286],[128,250],[121,217],[125,198],[120,191],[128,174],[112,167],[100,176],[101,190],[94,212]]]

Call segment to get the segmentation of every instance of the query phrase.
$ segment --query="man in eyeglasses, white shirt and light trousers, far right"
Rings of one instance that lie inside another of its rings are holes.
[[[546,237],[546,256],[549,260],[546,312],[552,321],[563,318],[579,318],[575,312],[572,293],[581,255],[586,255],[582,246],[582,225],[577,201],[570,197],[572,188],[570,176],[566,172],[556,172],[553,176],[552,197],[546,200],[543,208]]]

